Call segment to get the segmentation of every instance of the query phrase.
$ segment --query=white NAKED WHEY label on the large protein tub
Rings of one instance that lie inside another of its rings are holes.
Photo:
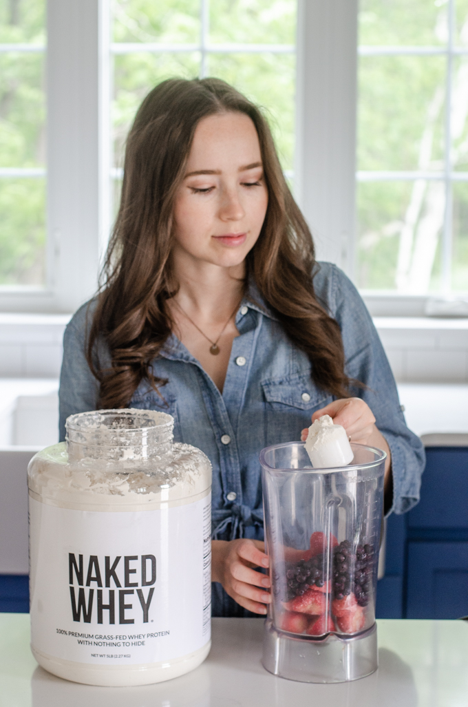
[[[100,513],[29,499],[31,643],[55,658],[137,665],[209,641],[211,496]]]

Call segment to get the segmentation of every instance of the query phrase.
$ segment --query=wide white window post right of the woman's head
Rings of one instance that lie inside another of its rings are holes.
[[[357,0],[299,0],[295,192],[317,258],[353,271]]]

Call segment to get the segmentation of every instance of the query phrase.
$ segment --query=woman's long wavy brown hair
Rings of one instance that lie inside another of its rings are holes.
[[[166,303],[175,294],[170,259],[175,194],[197,124],[226,111],[245,113],[255,124],[269,194],[262,231],[247,255],[247,277],[289,339],[308,354],[317,385],[337,397],[349,395],[339,325],[314,294],[312,236],[262,112],[218,78],[169,79],[148,93],[127,140],[122,199],[87,346],[88,364],[100,381],[100,407],[127,407],[141,380],[155,390],[167,382],[153,375],[151,362],[173,327]],[[97,361],[98,339],[110,349],[110,368]]]

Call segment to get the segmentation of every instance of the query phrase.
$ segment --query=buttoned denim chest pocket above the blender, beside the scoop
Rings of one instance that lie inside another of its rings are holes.
[[[332,396],[315,387],[310,373],[294,373],[262,381],[267,445],[300,439],[315,410],[332,402]]]

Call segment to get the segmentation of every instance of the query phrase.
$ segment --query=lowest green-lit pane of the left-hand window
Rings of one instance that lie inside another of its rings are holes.
[[[0,285],[45,281],[45,180],[0,179]]]

